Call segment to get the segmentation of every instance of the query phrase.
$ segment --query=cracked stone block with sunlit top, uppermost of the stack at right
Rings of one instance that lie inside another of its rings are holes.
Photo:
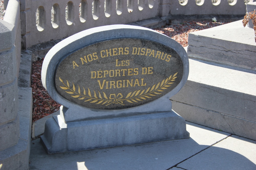
[[[256,71],[254,30],[242,20],[189,33],[188,57]]]

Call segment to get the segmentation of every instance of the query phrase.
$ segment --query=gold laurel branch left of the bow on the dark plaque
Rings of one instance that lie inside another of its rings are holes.
[[[101,104],[101,105],[108,104],[109,102],[113,102],[113,100],[109,99],[103,91],[102,91],[102,93],[103,93],[103,97],[105,99],[103,99],[103,97],[101,96],[101,93],[99,91],[97,93],[93,90],[93,92],[91,93],[91,90],[89,88],[87,90],[87,94],[88,94],[88,96],[87,96],[86,89],[84,89],[84,87],[82,89],[83,94],[81,94],[81,89],[80,89],[79,85],[77,85],[77,87],[78,87],[78,89],[77,89],[76,86],[74,85],[74,83],[72,83],[72,89],[71,89],[68,80],[66,80],[67,84],[65,84],[60,77],[59,77],[59,80],[64,85],[64,86],[59,86],[59,87],[61,89],[65,90],[65,92],[70,94],[71,97],[73,97],[73,98],[77,98],[79,100],[86,99],[86,100],[84,100],[84,102],[90,102],[90,103]]]

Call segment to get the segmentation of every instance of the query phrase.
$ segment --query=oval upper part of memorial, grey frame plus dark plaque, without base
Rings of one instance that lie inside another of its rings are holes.
[[[109,25],[55,45],[44,59],[42,84],[69,110],[103,114],[97,109],[116,112],[170,98],[186,83],[188,67],[185,49],[170,37],[132,25]]]

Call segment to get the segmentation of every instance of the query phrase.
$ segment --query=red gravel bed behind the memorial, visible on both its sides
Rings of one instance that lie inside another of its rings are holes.
[[[223,25],[228,22],[207,22],[207,21],[191,21],[184,22],[181,24],[168,25],[162,28],[156,28],[154,30],[163,33],[178,43],[183,47],[188,44],[188,33],[199,31],[207,28],[216,27],[218,25]],[[42,86],[41,82],[41,69],[44,59],[33,62],[32,65],[32,75],[31,75],[31,87],[33,92],[33,122],[45,117],[51,113],[59,110],[60,104],[55,102],[47,93],[45,88]]]

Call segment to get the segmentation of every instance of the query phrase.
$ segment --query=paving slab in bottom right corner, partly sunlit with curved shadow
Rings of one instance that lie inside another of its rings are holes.
[[[256,169],[256,141],[232,135],[216,145],[180,163],[188,170]]]

